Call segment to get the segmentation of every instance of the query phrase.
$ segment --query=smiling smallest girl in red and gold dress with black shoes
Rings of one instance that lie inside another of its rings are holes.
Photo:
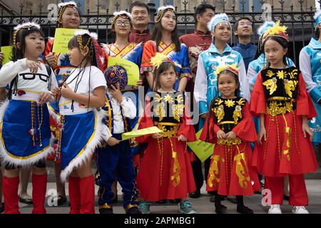
[[[219,66],[215,73],[220,96],[212,100],[200,135],[200,140],[215,143],[206,190],[215,192],[217,214],[226,212],[220,203],[222,195],[236,195],[237,211],[253,214],[253,210],[243,204],[243,195],[253,195],[260,190],[257,172],[250,166],[250,142],[257,139],[250,105],[239,96],[236,64]]]

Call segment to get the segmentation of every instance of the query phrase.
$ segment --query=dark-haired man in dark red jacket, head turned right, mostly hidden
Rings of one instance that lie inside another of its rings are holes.
[[[212,36],[210,31],[208,31],[208,22],[214,16],[214,6],[210,4],[200,4],[195,9],[195,23],[196,29],[193,34],[186,34],[180,36],[180,41],[188,46],[188,58],[190,61],[190,68],[192,69],[193,80],[188,81],[185,88],[186,92],[190,93],[190,98],[193,98],[194,91],[194,80],[195,74],[198,66],[198,56],[202,51],[207,50],[212,43]],[[190,102],[190,109],[193,110],[193,102]],[[195,125],[195,130],[198,130],[198,126]],[[200,197],[200,188],[203,186],[204,178],[202,172],[202,162],[195,157],[195,161],[192,162],[194,180],[196,184],[196,191],[190,193],[190,197],[198,198]],[[205,160],[205,180],[208,177],[208,170],[210,168],[210,158]]]

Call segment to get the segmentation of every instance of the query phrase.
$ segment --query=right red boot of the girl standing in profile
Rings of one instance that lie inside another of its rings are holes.
[[[95,214],[95,183],[93,175],[81,178],[79,186],[81,192],[80,214]]]

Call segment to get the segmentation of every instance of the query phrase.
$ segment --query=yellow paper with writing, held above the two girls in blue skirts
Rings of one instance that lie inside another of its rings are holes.
[[[75,36],[75,31],[82,31],[83,29],[73,28],[56,28],[55,41],[52,52],[54,53],[68,53],[68,42]]]

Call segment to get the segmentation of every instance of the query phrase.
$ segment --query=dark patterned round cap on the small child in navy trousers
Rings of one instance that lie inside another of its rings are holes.
[[[111,88],[111,85],[117,88],[119,84],[121,90],[123,90],[128,83],[126,70],[122,66],[110,66],[106,69],[104,74],[108,88]]]

